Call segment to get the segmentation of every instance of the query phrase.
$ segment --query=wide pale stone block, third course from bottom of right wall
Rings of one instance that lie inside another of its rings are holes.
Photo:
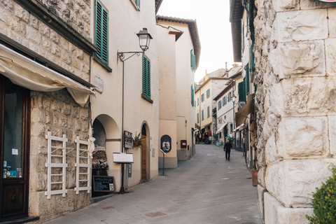
[[[321,158],[329,153],[328,119],[282,118],[277,146],[284,159]]]

